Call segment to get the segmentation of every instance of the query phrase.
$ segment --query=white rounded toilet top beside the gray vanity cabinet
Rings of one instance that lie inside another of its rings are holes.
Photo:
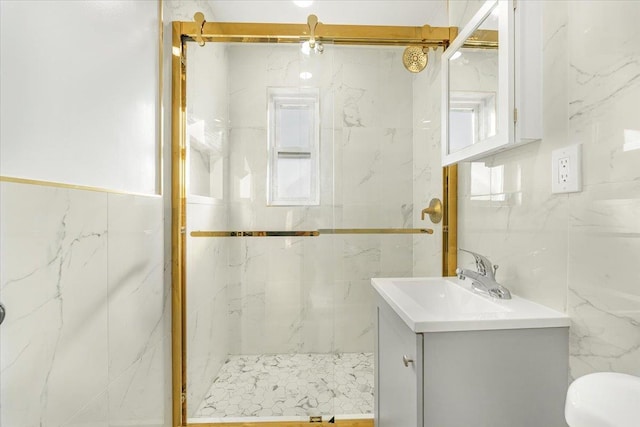
[[[565,417],[570,427],[640,426],[640,378],[599,372],[569,386]]]

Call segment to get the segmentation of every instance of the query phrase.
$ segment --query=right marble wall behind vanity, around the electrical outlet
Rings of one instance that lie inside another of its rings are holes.
[[[466,16],[479,4],[460,3],[452,4]],[[543,5],[543,139],[461,164],[459,245],[499,264],[499,280],[516,294],[568,312],[573,378],[638,375],[640,4]],[[583,144],[583,191],[551,194],[551,151],[572,143]],[[503,176],[474,194],[473,167]]]

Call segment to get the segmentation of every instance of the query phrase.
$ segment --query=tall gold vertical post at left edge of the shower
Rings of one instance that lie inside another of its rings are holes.
[[[173,23],[172,111],[171,111],[171,354],[172,354],[172,417],[173,425],[186,425],[185,380],[185,227],[186,200],[184,194],[184,128],[186,113],[185,46],[182,42],[182,24]]]

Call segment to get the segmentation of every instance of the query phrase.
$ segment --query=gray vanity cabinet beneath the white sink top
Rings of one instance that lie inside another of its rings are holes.
[[[415,333],[379,295],[376,316],[376,427],[566,427],[568,327]]]

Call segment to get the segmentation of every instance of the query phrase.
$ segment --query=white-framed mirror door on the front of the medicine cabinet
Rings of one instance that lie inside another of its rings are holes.
[[[443,54],[443,164],[509,142],[507,2],[487,1]]]

